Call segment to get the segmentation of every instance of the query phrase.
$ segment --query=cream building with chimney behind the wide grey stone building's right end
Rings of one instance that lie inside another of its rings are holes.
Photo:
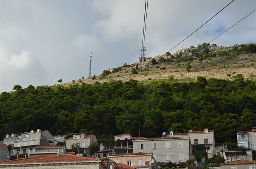
[[[202,151],[206,149],[208,158],[212,158],[212,150],[215,147],[214,130],[204,128],[203,131],[189,131],[188,133],[170,132],[166,137],[190,138],[193,151]]]

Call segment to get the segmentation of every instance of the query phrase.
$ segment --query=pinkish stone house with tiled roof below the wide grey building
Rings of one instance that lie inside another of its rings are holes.
[[[157,169],[158,164],[152,153],[125,153],[109,155],[109,159],[116,163],[124,163],[135,168]]]

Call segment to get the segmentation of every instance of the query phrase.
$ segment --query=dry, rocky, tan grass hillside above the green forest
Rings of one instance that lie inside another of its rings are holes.
[[[254,45],[256,43],[253,43]],[[248,45],[248,44],[246,44]],[[244,45],[244,46],[246,46]],[[254,79],[256,75],[256,53],[248,53],[248,52],[240,52],[239,54],[235,55],[234,47],[241,49],[243,45],[234,45],[231,47],[218,47],[214,45],[206,45],[208,49],[210,50],[210,53],[216,53],[215,57],[209,57],[204,58],[202,61],[199,61],[198,57],[192,56],[194,59],[193,61],[190,61],[191,69],[189,72],[186,71],[186,62],[182,61],[180,58],[188,58],[192,55],[191,49],[180,49],[176,51],[173,55],[173,62],[160,62],[159,58],[164,57],[165,59],[168,59],[171,57],[165,55],[162,56],[156,56],[154,57],[156,61],[158,61],[157,64],[152,65],[151,59],[148,61],[145,61],[146,68],[149,69],[149,71],[138,71],[138,74],[132,75],[131,70],[132,68],[136,68],[136,65],[138,65],[139,69],[141,66],[141,62],[138,63],[132,63],[130,64],[131,67],[122,67],[121,71],[118,71],[117,73],[111,73],[108,77],[108,79],[113,79],[114,81],[122,80],[122,82],[129,81],[129,79],[138,80],[142,83],[146,83],[148,81],[152,80],[158,80],[158,79],[168,79],[168,76],[173,75],[174,81],[181,82],[181,81],[196,81],[196,78],[198,76],[208,78],[216,78],[216,79],[229,79],[233,80],[234,76],[237,74],[242,74],[242,76],[245,79]],[[195,48],[197,49],[197,47]],[[198,53],[201,53],[203,51],[203,48],[201,48]],[[230,55],[218,55],[220,51],[227,51],[230,53]],[[179,57],[180,62],[176,62],[177,56],[179,53],[182,53],[182,56]],[[110,65],[111,66],[111,65]],[[161,70],[160,68],[165,67],[166,69]],[[227,74],[230,74],[228,77]],[[100,83],[106,82],[107,79],[99,79],[99,76],[96,77],[95,80],[92,79],[83,79],[82,82],[87,84],[92,84],[95,81],[98,81]],[[75,84],[82,84],[79,83],[79,81],[76,81]],[[62,85],[68,86],[70,83],[64,83]]]

